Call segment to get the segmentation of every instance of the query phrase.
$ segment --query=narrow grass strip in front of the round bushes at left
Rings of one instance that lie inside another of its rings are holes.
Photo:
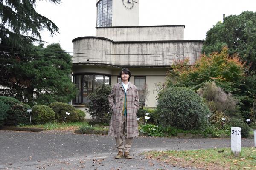
[[[43,125],[20,125],[18,127],[43,128],[44,130],[77,130],[82,126],[88,125],[87,122],[70,123],[46,123]]]

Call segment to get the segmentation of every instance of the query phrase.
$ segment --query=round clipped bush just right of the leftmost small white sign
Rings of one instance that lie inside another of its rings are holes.
[[[35,105],[32,107],[31,119],[33,124],[45,124],[54,122],[55,113],[52,108],[45,105]]]

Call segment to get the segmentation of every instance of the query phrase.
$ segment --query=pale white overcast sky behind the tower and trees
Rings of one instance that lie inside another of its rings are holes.
[[[96,0],[62,0],[59,5],[37,1],[36,11],[59,28],[59,33],[53,37],[49,32],[42,31],[43,40],[49,44],[58,42],[67,52],[73,52],[74,38],[96,34]],[[139,11],[140,26],[186,25],[185,40],[204,40],[207,31],[223,20],[223,14],[256,12],[256,1],[140,0]]]

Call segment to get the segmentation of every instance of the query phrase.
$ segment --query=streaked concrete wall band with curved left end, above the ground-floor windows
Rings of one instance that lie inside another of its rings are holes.
[[[113,42],[101,37],[79,37],[73,40],[73,63],[145,67],[169,66],[189,59],[193,64],[201,54],[202,44],[198,40]]]

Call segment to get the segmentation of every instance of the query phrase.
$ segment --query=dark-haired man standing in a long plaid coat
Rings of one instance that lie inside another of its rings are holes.
[[[139,109],[139,95],[136,86],[129,82],[131,72],[127,68],[123,68],[119,75],[122,82],[115,84],[108,95],[109,106],[113,111],[108,135],[116,138],[118,150],[116,159],[120,159],[122,156],[131,159],[129,150],[133,137],[139,136],[136,119],[136,113]]]

